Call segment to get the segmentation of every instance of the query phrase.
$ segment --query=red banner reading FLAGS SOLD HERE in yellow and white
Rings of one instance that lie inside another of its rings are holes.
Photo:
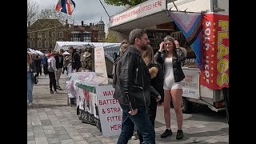
[[[200,84],[213,90],[229,87],[229,16],[204,14],[202,31],[205,64]]]

